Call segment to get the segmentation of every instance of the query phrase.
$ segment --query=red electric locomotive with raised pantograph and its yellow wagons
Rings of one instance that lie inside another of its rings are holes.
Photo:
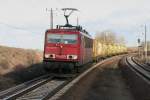
[[[76,9],[63,10],[72,13]],[[125,46],[101,43],[93,39],[81,26],[70,25],[68,17],[71,13],[64,13],[67,21],[65,25],[57,25],[55,29],[45,32],[43,63],[46,70],[65,67],[78,72],[79,66],[86,63],[125,52]]]

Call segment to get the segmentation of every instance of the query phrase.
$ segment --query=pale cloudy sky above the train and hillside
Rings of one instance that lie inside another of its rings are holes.
[[[127,46],[137,46],[147,24],[150,40],[150,0],[0,0],[0,45],[43,49],[44,32],[49,28],[49,13],[54,11],[54,24],[65,24],[61,8],[77,8],[70,23],[79,24],[94,36],[111,30],[124,36]]]

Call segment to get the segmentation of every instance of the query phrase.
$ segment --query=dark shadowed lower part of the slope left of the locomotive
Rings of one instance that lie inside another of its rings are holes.
[[[42,62],[23,68],[18,65],[15,68],[14,71],[0,76],[0,91],[47,74]]]

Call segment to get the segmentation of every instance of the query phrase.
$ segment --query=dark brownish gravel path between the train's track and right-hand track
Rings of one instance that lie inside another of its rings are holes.
[[[60,100],[134,100],[118,61],[119,58],[96,68]]]

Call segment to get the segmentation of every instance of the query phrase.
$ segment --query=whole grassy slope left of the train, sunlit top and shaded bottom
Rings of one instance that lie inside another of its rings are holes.
[[[0,90],[44,75],[42,52],[0,46]]]

